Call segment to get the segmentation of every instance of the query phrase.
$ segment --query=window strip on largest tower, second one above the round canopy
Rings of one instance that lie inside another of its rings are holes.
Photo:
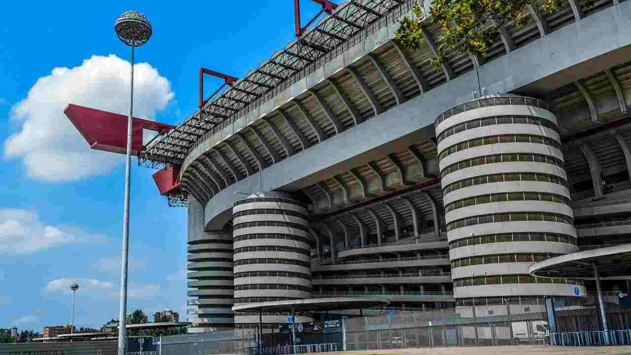
[[[572,219],[572,217],[563,214],[555,214],[552,212],[505,212],[457,219],[447,224],[447,231],[452,231],[454,229],[467,226],[475,226],[476,224],[516,222],[527,220],[559,222],[574,225],[574,220]]]

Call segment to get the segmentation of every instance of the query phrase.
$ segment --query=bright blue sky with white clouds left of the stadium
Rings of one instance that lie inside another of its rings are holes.
[[[164,123],[195,111],[200,66],[242,77],[293,40],[292,1],[4,4],[22,16],[0,23],[0,327],[69,323],[73,281],[76,326],[118,316],[124,160],[90,150],[62,111],[126,114],[129,47],[113,27],[130,4],[154,28],[136,51],[134,116]],[[318,5],[301,9],[306,22]],[[128,310],[186,319],[186,210],[133,164]]]

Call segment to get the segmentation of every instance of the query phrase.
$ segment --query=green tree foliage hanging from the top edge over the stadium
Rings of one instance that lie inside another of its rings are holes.
[[[589,8],[593,0],[580,0]],[[554,13],[563,7],[563,0],[433,0],[425,6],[423,0],[413,6],[413,17],[405,16],[396,32],[403,47],[418,49],[425,44],[423,31],[438,27],[435,64],[444,63],[447,56],[468,53],[482,58],[497,42],[499,28],[511,23],[521,27],[528,22],[532,7],[539,13]]]

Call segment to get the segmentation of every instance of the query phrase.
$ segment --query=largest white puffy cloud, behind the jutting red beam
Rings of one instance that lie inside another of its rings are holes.
[[[77,104],[126,114],[130,64],[117,56],[92,56],[74,68],[53,68],[11,109],[20,131],[4,142],[4,157],[21,158],[28,176],[71,181],[105,174],[123,161],[115,153],[91,150],[64,108]],[[134,65],[134,116],[152,119],[174,98],[167,78],[148,63]]]

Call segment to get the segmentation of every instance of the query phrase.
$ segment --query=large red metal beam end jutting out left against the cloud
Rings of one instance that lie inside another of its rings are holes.
[[[66,106],[64,114],[85,138],[90,148],[121,154],[127,152],[127,116],[73,104]],[[163,135],[174,128],[170,124],[136,117],[132,119],[131,127],[133,155],[145,150],[143,129],[150,129]]]

